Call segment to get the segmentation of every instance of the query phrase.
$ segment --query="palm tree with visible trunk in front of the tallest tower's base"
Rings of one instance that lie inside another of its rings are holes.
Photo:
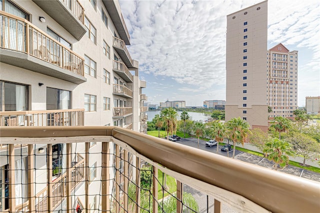
[[[232,158],[235,155],[235,143],[240,142],[243,146],[244,140],[248,133],[251,133],[249,130],[249,123],[240,117],[232,118],[226,122],[226,129],[229,132],[229,136],[233,141],[233,154]]]

